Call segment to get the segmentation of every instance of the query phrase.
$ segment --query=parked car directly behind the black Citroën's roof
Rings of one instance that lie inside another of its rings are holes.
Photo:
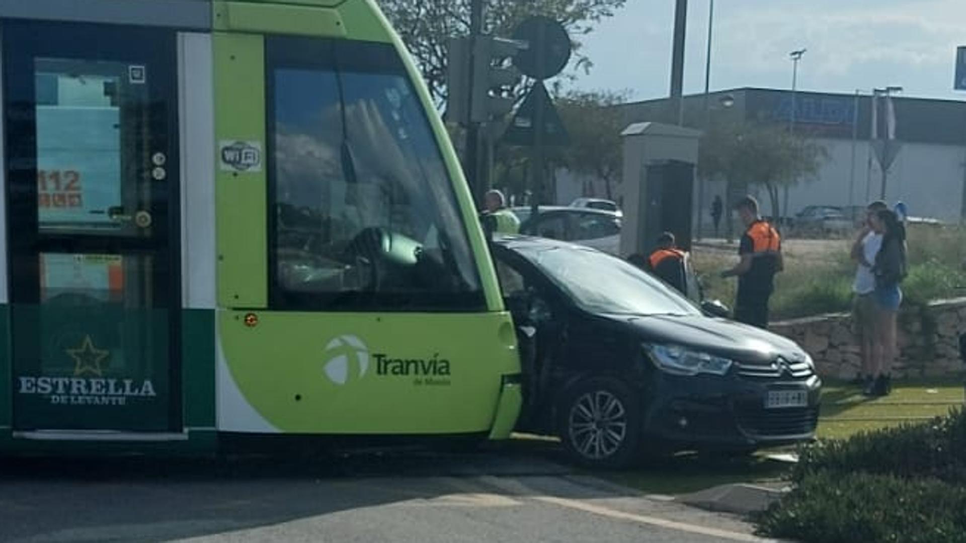
[[[528,236],[549,238],[561,242],[573,242],[600,249],[613,255],[620,254],[620,215],[591,208],[547,206],[540,213],[531,215],[512,208],[520,218],[520,233]]]

